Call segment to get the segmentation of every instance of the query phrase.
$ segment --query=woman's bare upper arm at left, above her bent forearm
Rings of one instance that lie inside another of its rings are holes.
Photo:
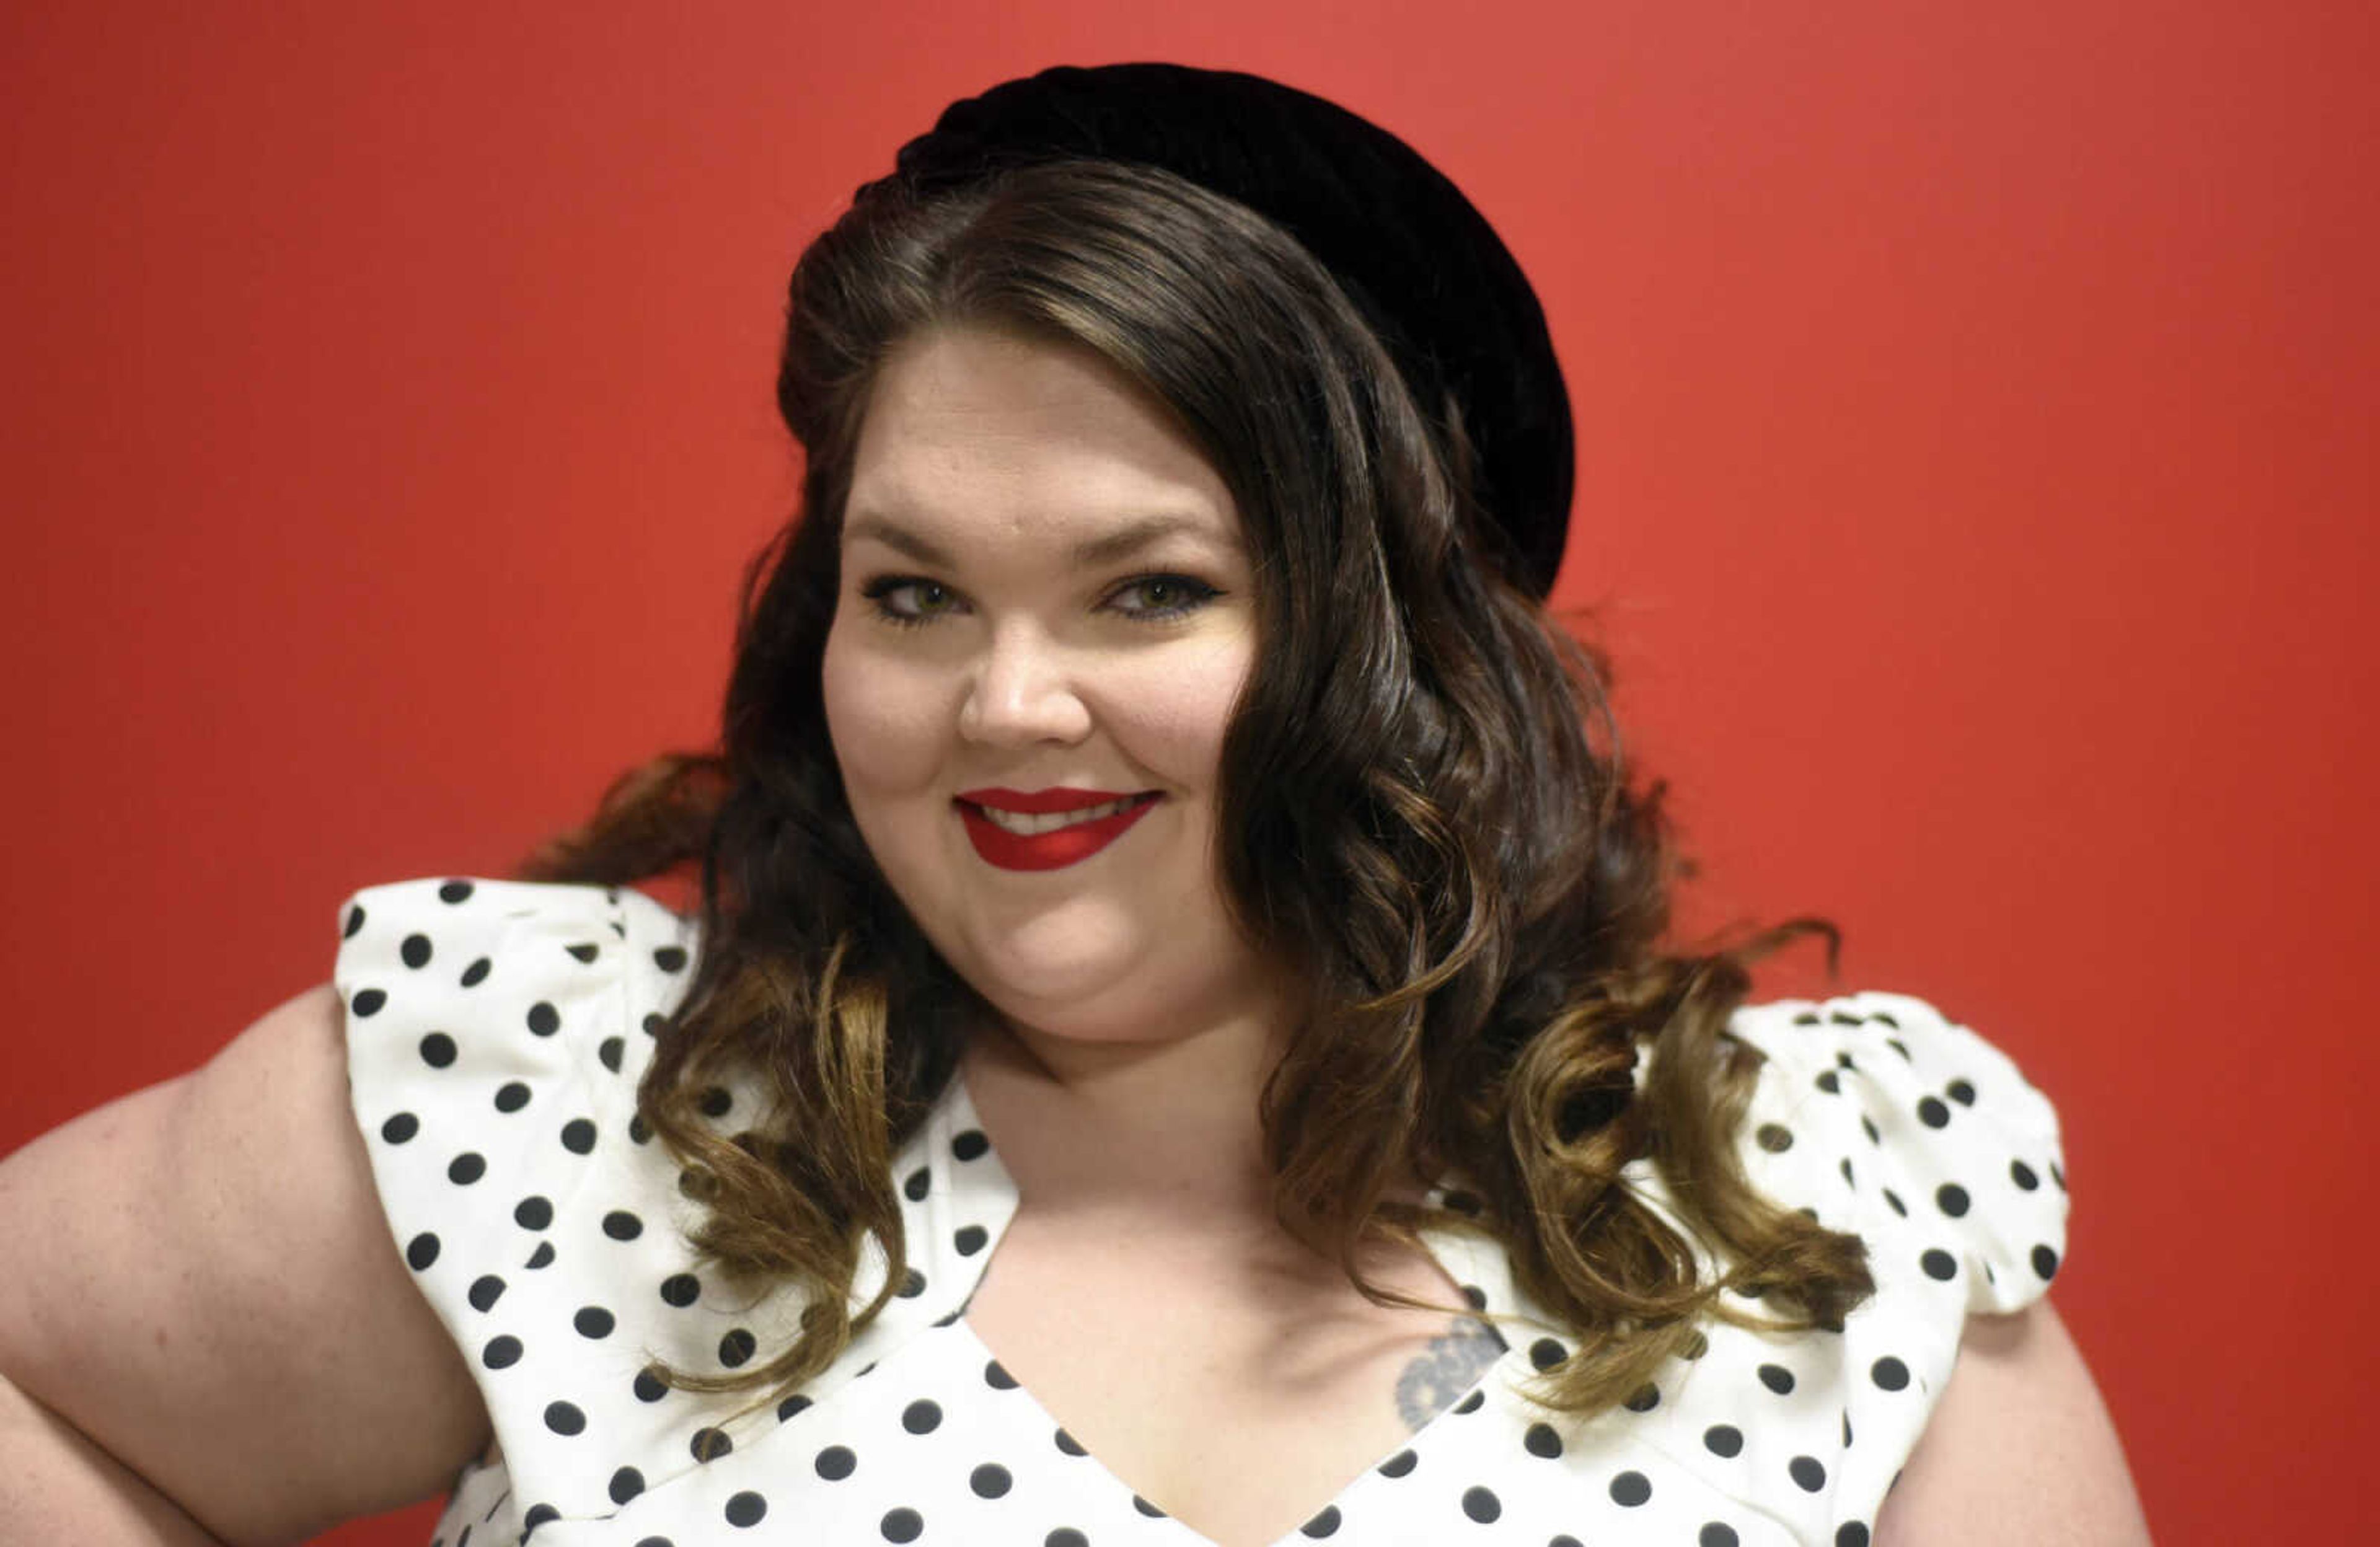
[[[0,1161],[0,1371],[231,1542],[440,1492],[488,1440],[314,988]]]

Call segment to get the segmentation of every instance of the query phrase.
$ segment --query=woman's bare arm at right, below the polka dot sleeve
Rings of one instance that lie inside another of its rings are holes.
[[[1902,1480],[1878,1547],[2144,1547],[2149,1523],[2123,1442],[2066,1323],[2035,1299],[1968,1316],[1959,1364]]]

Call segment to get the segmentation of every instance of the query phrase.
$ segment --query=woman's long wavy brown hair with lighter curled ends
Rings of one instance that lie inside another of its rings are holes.
[[[704,1261],[747,1290],[795,1285],[807,1311],[764,1361],[666,1378],[778,1395],[881,1311],[907,1269],[892,1154],[990,1014],[869,857],[819,683],[876,369],[942,326],[1081,345],[1147,388],[1259,557],[1219,831],[1240,931],[1314,985],[1261,1092],[1280,1221],[1407,1307],[1426,1302],[1359,1273],[1366,1242],[1492,1235],[1580,1338],[1537,1378],[1580,1416],[1699,1352],[1706,1316],[1840,1328],[1873,1292],[1864,1247],[1749,1185],[1735,1133],[1761,1054],[1726,1031],[1759,954],[1821,933],[1833,962],[1833,928],[1666,950],[1659,785],[1623,776],[1602,657],[1507,581],[1454,402],[1414,402],[1271,221],[1157,169],[1054,162],[931,198],[869,186],[809,245],[778,374],[802,507],[745,576],[721,745],[621,776],[524,866],[628,883],[700,864],[702,959],[638,1109],[707,1204]],[[731,1073],[766,1100],[724,1135],[700,1102]],[[1621,1178],[1640,1157],[1723,1247],[1718,1278]],[[1466,1195],[1390,1200],[1414,1171]],[[890,1271],[852,1309],[869,1235]]]

